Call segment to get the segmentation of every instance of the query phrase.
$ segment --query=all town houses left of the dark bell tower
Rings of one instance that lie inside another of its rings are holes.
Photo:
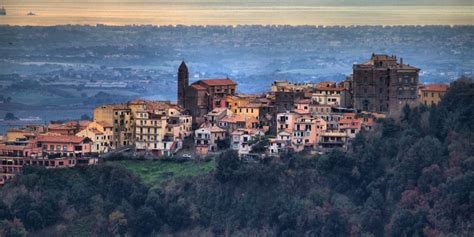
[[[134,100],[94,109],[93,121],[27,125],[8,129],[0,143],[0,184],[24,166],[92,165],[101,154],[133,146],[170,156],[192,131],[192,117],[170,102]]]

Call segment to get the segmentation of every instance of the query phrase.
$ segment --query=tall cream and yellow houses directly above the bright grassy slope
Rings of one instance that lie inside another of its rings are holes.
[[[193,134],[192,117],[169,101],[133,100],[94,109],[94,122],[110,124],[104,149],[127,146],[157,156],[171,156]]]

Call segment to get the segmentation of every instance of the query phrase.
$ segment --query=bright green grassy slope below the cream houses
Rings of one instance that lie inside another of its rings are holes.
[[[175,163],[160,160],[122,160],[113,161],[113,163],[123,165],[150,186],[163,183],[171,178],[209,173],[216,167],[214,161]]]

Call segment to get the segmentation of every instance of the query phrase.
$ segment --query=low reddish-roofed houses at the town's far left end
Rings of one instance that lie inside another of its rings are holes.
[[[103,125],[89,121],[8,129],[0,143],[0,184],[27,165],[64,168],[95,164],[98,137],[105,133]]]

